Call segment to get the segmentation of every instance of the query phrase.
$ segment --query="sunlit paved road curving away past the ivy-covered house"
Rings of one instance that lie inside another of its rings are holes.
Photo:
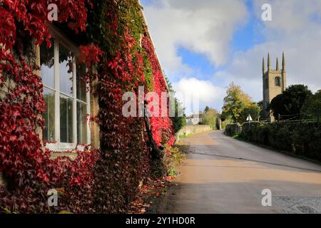
[[[223,131],[184,138],[180,175],[158,213],[321,213],[321,165],[229,138]],[[263,207],[262,191],[272,193]]]

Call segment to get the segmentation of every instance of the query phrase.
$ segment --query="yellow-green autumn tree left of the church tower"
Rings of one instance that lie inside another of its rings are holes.
[[[223,119],[225,119],[224,117],[230,116],[234,122],[239,122],[243,109],[252,103],[250,96],[244,93],[240,86],[235,86],[234,83],[230,83],[224,98]]]

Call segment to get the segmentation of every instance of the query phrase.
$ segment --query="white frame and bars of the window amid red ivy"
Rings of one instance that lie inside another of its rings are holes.
[[[61,152],[63,150],[73,150],[76,149],[77,142],[77,102],[85,103],[82,100],[77,99],[77,84],[76,84],[76,56],[79,55],[78,48],[74,46],[68,39],[63,37],[55,28],[51,27],[51,34],[54,37],[54,87],[45,86],[44,88],[49,88],[55,91],[55,141],[54,143],[47,142],[46,148],[51,151]],[[73,95],[68,95],[60,91],[60,69],[59,69],[59,43],[68,50],[73,52]],[[87,71],[87,69],[86,69]],[[86,85],[89,90],[86,90],[86,113],[90,115],[90,86]],[[67,98],[73,98],[73,143],[60,142],[60,95],[64,95]],[[86,144],[91,144],[91,130],[89,125],[86,123],[87,130],[87,142]],[[78,146],[78,150],[83,150],[83,146]]]

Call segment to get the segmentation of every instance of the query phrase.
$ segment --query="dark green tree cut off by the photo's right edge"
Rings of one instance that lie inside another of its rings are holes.
[[[317,91],[305,100],[301,108],[301,116],[305,119],[317,119],[320,122],[321,117],[321,90]]]

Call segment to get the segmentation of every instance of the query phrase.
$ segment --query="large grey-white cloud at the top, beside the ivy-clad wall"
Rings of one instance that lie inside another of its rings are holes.
[[[205,54],[215,66],[226,63],[235,26],[247,18],[246,6],[239,0],[155,1],[144,12],[156,51],[170,75],[193,73],[178,56],[179,47]]]

